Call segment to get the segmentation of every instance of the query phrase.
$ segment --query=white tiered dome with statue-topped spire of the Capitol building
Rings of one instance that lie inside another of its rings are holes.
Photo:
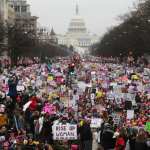
[[[71,19],[69,24],[69,34],[85,34],[87,32],[84,19],[79,16],[78,5],[76,6],[76,16]]]

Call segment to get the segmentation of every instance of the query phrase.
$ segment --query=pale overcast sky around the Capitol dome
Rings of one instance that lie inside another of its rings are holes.
[[[42,26],[53,27],[56,33],[65,33],[75,14],[78,2],[88,31],[102,36],[112,25],[118,24],[118,16],[129,12],[137,0],[27,0],[32,15],[39,17]]]

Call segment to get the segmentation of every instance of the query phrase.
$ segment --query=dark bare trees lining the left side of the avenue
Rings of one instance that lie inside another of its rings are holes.
[[[4,39],[7,46],[4,46]],[[15,64],[18,57],[55,57],[68,56],[70,51],[65,46],[50,42],[43,42],[36,34],[36,31],[25,30],[17,24],[4,25],[0,23],[0,53],[8,50],[12,62]]]

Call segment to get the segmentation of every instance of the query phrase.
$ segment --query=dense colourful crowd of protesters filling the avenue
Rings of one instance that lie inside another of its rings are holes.
[[[57,144],[150,149],[150,64],[144,58],[22,58],[15,67],[8,60],[0,67],[0,150],[57,150]],[[56,123],[76,124],[78,139],[56,142]]]

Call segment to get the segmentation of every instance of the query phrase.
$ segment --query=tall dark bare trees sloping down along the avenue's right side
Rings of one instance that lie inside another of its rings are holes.
[[[91,53],[101,56],[135,56],[150,53],[150,0],[134,6],[134,11],[120,17],[120,25],[112,27],[100,42],[93,45]]]

